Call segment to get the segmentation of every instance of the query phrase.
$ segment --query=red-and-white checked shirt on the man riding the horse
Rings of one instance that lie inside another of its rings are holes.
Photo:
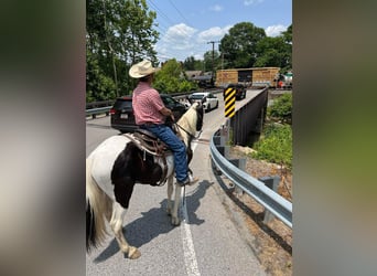
[[[140,82],[132,94],[132,107],[137,125],[163,124],[165,116],[160,113],[164,104],[157,89]]]

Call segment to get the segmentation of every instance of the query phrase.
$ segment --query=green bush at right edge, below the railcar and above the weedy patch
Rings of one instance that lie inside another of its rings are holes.
[[[267,115],[274,120],[292,123],[292,93],[283,94],[267,108]]]

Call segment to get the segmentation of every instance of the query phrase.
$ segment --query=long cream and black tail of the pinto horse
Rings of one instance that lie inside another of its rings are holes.
[[[105,240],[107,231],[105,215],[111,214],[107,194],[99,189],[91,177],[91,160],[86,159],[86,251],[97,247]]]

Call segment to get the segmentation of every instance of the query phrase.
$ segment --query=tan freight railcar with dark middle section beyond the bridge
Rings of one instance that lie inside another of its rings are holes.
[[[277,87],[280,67],[228,68],[216,72],[217,87],[241,83],[252,87]]]

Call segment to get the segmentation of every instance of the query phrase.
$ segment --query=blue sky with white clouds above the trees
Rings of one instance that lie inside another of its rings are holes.
[[[218,50],[218,42],[229,29],[250,22],[277,36],[292,24],[292,0],[147,0],[157,12],[160,33],[155,50],[159,61],[203,60],[207,51]]]

